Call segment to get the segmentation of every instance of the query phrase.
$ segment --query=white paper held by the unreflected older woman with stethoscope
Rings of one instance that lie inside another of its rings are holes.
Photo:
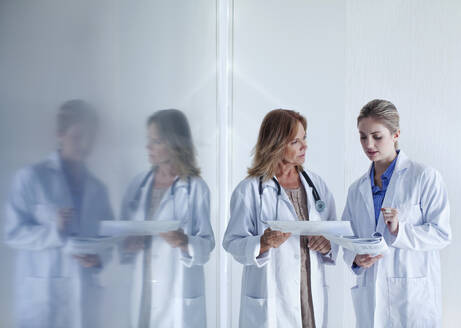
[[[272,230],[291,232],[300,236],[343,235],[353,236],[349,221],[266,221]]]

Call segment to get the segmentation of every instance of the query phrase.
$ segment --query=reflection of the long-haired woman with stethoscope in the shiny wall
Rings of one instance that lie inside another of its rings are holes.
[[[180,229],[129,237],[123,258],[134,264],[134,327],[205,327],[203,265],[214,248],[210,195],[199,176],[184,114],[161,110],[147,122],[152,169],[129,186],[122,219],[177,220]]]

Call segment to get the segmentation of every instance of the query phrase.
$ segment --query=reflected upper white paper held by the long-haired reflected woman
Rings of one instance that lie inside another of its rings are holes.
[[[100,221],[101,236],[152,236],[178,230],[180,221]]]

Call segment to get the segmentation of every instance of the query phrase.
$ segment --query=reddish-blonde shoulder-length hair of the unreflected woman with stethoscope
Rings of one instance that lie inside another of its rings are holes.
[[[289,109],[274,109],[266,114],[259,128],[258,141],[253,148],[253,163],[248,168],[248,177],[271,179],[283,159],[286,146],[296,136],[298,122],[304,130],[307,121],[304,116]],[[302,170],[302,167],[296,167]]]

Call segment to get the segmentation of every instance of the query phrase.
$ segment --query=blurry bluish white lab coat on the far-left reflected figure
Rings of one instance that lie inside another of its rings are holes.
[[[77,236],[96,236],[98,220],[112,219],[105,186],[87,172]],[[57,211],[72,208],[59,156],[16,175],[7,203],[5,240],[17,249],[19,327],[97,327],[100,269],[83,268],[64,252]],[[100,254],[106,255],[106,254]],[[103,259],[104,260],[104,259]]]

